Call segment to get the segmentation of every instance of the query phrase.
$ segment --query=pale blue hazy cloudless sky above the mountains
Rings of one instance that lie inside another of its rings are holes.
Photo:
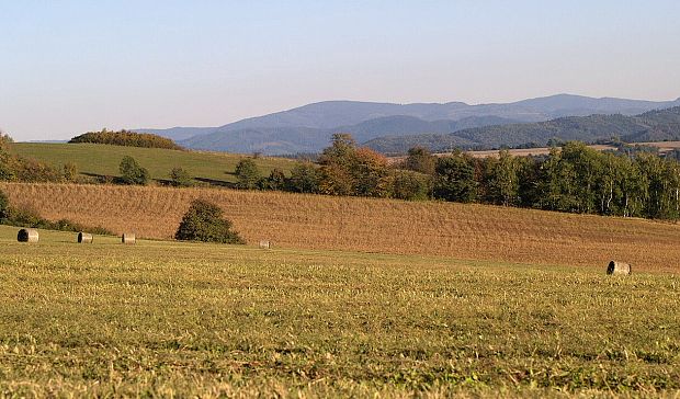
[[[218,126],[324,100],[680,96],[678,0],[0,0],[0,129]]]

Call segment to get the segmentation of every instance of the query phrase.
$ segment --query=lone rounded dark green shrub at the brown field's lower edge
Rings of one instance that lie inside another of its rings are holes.
[[[191,203],[174,238],[183,241],[246,243],[231,230],[231,221],[223,216],[222,209],[205,200],[194,200]]]

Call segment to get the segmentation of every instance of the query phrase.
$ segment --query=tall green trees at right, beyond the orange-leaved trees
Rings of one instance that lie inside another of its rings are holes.
[[[433,197],[580,214],[680,218],[680,163],[654,153],[628,157],[566,142],[542,158],[437,160]]]

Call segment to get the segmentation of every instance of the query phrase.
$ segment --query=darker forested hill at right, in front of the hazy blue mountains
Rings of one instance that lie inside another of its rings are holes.
[[[508,147],[543,147],[552,139],[593,142],[619,137],[626,142],[680,139],[680,106],[649,111],[636,116],[567,116],[537,123],[509,124],[463,129],[451,134],[427,134],[379,137],[365,146],[383,153],[406,153],[421,146],[431,151],[492,149]]]

